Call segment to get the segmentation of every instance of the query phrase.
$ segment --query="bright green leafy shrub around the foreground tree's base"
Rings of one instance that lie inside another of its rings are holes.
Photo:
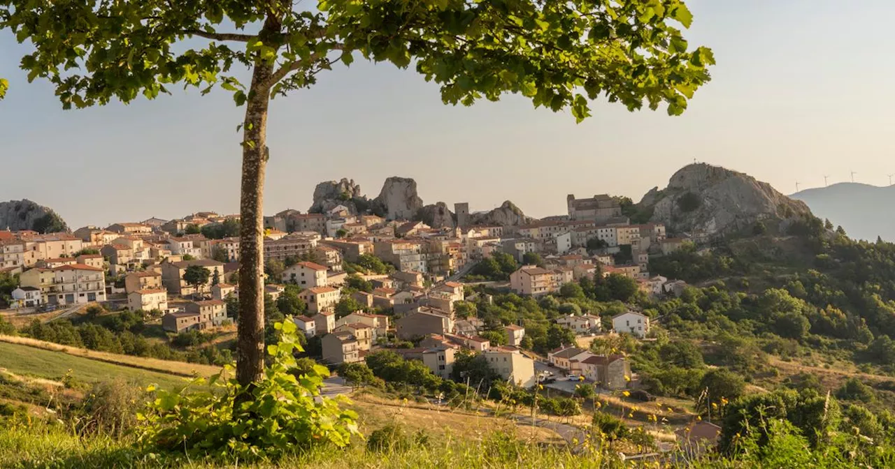
[[[244,388],[224,374],[198,378],[180,392],[155,390],[139,441],[145,449],[184,451],[189,455],[235,456],[242,460],[277,459],[287,452],[332,444],[345,447],[358,434],[352,411],[339,408],[346,398],[319,398],[325,367],[316,365],[301,380],[294,377],[298,345],[291,318],[274,324],[277,344],[268,346],[270,364],[260,381]],[[196,389],[199,387],[199,389]]]

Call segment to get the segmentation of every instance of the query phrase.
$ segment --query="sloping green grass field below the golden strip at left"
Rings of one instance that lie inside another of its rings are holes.
[[[87,382],[108,381],[120,377],[141,386],[155,383],[168,389],[183,386],[186,382],[184,378],[171,374],[108,364],[81,356],[5,342],[0,342],[0,368],[6,368],[10,373],[18,375],[56,381],[61,380],[68,370],[72,370],[76,380]]]

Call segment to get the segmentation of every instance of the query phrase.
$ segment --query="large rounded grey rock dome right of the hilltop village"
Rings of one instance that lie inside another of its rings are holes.
[[[675,172],[668,187],[653,188],[638,209],[652,210],[652,222],[663,222],[674,232],[707,235],[811,214],[805,203],[780,194],[767,182],[706,163]]]

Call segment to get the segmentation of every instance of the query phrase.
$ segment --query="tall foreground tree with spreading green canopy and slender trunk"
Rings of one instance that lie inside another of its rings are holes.
[[[581,121],[588,100],[605,95],[631,111],[665,104],[676,115],[711,79],[714,63],[710,49],[690,48],[673,24],[693,20],[680,0],[292,4],[0,0],[0,29],[34,49],[21,67],[49,80],[65,109],[152,99],[175,83],[203,93],[220,86],[245,105],[236,354],[243,385],[260,381],[264,364],[261,205],[272,96],[310,87],[356,53],[402,69],[415,63],[452,105],[516,93]],[[248,87],[234,64],[251,70]],[[7,87],[0,82],[0,94]]]

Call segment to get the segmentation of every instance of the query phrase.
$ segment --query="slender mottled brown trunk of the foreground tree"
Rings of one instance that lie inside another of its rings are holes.
[[[243,386],[264,372],[264,166],[268,159],[267,89],[260,89],[273,64],[258,61],[243,121],[243,185],[240,198],[239,327],[236,379]]]

